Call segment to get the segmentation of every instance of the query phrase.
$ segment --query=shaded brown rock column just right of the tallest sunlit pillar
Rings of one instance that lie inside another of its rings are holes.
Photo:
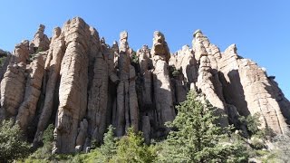
[[[107,45],[102,42],[102,51],[95,52],[92,87],[89,91],[87,113],[90,124],[89,134],[92,139],[95,139],[98,142],[102,141],[102,136],[106,129],[109,84],[108,55],[109,49]]]

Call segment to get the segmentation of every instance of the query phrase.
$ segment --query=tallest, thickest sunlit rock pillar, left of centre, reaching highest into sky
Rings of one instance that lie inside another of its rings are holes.
[[[73,152],[78,125],[87,107],[88,40],[90,27],[79,18],[73,18],[63,27],[66,50],[61,66],[59,106],[56,120],[57,152]]]

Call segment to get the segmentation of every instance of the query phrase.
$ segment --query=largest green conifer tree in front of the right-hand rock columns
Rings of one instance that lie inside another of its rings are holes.
[[[168,139],[162,144],[160,162],[242,162],[247,160],[237,144],[221,143],[226,136],[217,125],[216,108],[201,103],[193,91],[177,107],[179,113],[168,123]],[[226,129],[225,129],[226,130]]]

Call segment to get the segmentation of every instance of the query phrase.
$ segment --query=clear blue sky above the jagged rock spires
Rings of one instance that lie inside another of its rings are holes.
[[[290,98],[288,0],[6,0],[0,8],[0,48],[7,51],[31,40],[38,24],[45,24],[51,36],[53,27],[74,16],[81,16],[110,44],[127,30],[134,50],[151,46],[153,32],[160,30],[175,52],[190,45],[193,32],[201,29],[222,51],[237,43],[238,53],[275,75]]]

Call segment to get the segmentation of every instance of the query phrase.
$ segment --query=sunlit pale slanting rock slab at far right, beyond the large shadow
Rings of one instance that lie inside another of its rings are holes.
[[[275,133],[285,133],[288,131],[275,97],[272,97],[271,93],[266,90],[266,87],[271,85],[266,78],[265,72],[255,62],[247,59],[241,59],[239,62],[238,71],[245,92],[245,101],[247,101],[247,108],[250,113],[252,115],[256,112],[261,114],[260,121],[263,128],[268,126]]]

